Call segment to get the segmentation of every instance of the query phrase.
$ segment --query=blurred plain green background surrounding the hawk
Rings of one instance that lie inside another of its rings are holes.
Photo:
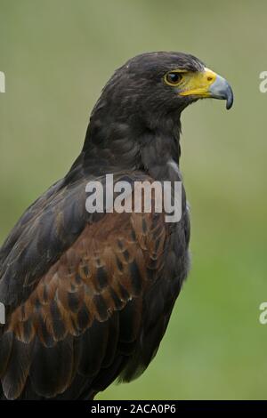
[[[235,92],[182,117],[192,269],[158,356],[99,399],[267,398],[264,1],[0,0],[0,240],[66,173],[113,70],[140,52],[190,52]]]

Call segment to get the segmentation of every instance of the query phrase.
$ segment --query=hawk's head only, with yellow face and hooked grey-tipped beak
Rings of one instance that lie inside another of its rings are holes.
[[[109,103],[113,116],[130,118],[138,114],[156,122],[206,98],[226,100],[230,109],[230,84],[190,54],[149,52],[117,69],[102,92],[101,103]]]

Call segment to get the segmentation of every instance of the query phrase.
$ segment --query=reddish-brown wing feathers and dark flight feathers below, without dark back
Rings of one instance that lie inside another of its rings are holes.
[[[138,337],[142,296],[160,274],[165,241],[161,214],[109,213],[87,225],[12,312],[2,343],[5,396],[29,386],[42,397],[81,391],[101,381],[103,366],[101,385],[112,382]]]

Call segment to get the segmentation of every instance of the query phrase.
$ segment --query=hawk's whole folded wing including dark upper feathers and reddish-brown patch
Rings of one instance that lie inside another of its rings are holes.
[[[79,181],[31,208],[1,266],[11,306],[0,337],[6,398],[104,389],[133,353],[144,296],[163,269],[164,214],[88,221],[84,190]]]

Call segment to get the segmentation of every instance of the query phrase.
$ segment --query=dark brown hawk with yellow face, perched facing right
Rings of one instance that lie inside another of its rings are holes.
[[[0,249],[0,398],[93,399],[149,366],[189,271],[190,220],[85,208],[86,185],[182,181],[181,113],[231,86],[182,52],[149,52],[101,92],[69,173],[30,205]],[[173,186],[171,186],[173,187]]]

